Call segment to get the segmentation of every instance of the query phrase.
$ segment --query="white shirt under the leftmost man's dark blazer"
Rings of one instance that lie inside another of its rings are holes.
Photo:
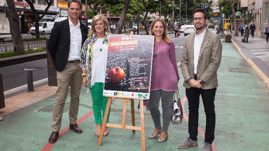
[[[80,31],[80,23],[78,20],[78,24],[75,25],[69,20],[69,28],[70,28],[70,50],[68,61],[79,60],[81,56],[81,46],[82,46],[82,35]]]

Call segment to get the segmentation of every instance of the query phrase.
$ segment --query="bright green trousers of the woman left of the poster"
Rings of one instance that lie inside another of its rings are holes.
[[[102,124],[102,120],[105,116],[105,108],[107,104],[108,97],[103,96],[104,91],[104,83],[97,82],[94,83],[94,86],[90,88],[91,98],[93,99],[93,110],[94,110],[94,118],[96,124]],[[103,113],[103,116],[101,114]],[[107,116],[106,122],[109,121],[109,113],[110,108]]]

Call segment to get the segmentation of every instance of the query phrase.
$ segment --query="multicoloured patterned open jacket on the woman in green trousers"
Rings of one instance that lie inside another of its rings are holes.
[[[104,37],[104,43],[108,44],[108,37],[109,34],[106,32],[105,33],[105,37]],[[92,62],[91,62],[91,58],[92,58],[92,46],[94,41],[97,39],[97,35],[93,34],[91,37],[87,38],[86,41],[84,42],[83,46],[82,46],[82,50],[81,50],[81,57],[80,57],[80,61],[81,63],[79,64],[80,67],[83,69],[86,69],[86,77],[87,77],[87,87],[88,89],[90,89],[92,87],[91,85],[91,77],[92,77],[92,70],[91,70],[91,66],[92,66]]]

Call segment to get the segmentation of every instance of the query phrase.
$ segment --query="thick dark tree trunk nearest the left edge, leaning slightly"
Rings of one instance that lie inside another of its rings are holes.
[[[21,37],[20,21],[14,0],[7,0],[6,17],[9,20],[10,34],[12,37],[14,52],[24,54],[24,44]]]

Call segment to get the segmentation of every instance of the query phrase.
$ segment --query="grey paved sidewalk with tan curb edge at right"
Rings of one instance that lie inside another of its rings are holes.
[[[225,34],[230,34],[230,32],[225,31]],[[248,38],[248,43],[242,42],[241,39],[243,37],[232,34],[232,40],[236,48],[243,53],[242,55],[249,66],[253,68],[269,89],[269,43],[266,43],[264,38],[251,38],[251,35]]]

